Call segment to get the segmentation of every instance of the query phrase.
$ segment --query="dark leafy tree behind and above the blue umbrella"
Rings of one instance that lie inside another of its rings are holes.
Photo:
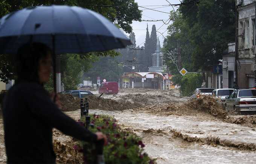
[[[142,11],[138,9],[138,4],[135,3],[134,0],[3,0],[0,2],[0,16],[2,17],[8,12],[14,12],[28,6],[41,6],[50,4],[81,6],[94,10],[110,19],[110,21],[114,22],[114,24],[128,33],[132,31],[132,21],[141,20]],[[84,62],[82,60],[92,60],[99,56],[108,55],[116,56],[119,54],[114,51],[91,52],[80,55],[80,57],[81,62]],[[13,66],[14,64],[10,55],[0,55],[1,81],[8,82],[8,80],[14,79]],[[87,63],[84,65],[84,68],[88,69],[89,66],[90,64]],[[62,67],[62,75],[64,75],[65,69],[66,67]]]

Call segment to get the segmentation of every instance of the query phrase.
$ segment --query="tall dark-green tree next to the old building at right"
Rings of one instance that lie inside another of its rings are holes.
[[[189,27],[193,66],[204,70],[217,64],[227,43],[235,40],[235,0],[183,0],[179,10]]]

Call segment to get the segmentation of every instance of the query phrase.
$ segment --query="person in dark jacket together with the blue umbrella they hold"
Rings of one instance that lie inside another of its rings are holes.
[[[55,163],[52,128],[79,140],[106,143],[104,134],[91,133],[59,110],[56,55],[131,44],[104,16],[77,6],[34,6],[3,16],[0,54],[15,55],[18,78],[3,103],[7,162]],[[55,94],[50,97],[43,85],[52,68]]]

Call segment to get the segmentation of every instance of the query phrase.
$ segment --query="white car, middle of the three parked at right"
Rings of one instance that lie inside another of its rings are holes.
[[[230,96],[234,89],[231,88],[225,88],[225,89],[214,89],[212,91],[212,96],[216,98],[216,100],[222,104],[226,105],[226,96]]]

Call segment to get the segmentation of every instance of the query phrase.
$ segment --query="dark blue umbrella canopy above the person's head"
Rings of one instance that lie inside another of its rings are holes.
[[[24,8],[0,19],[0,54],[16,54],[27,42],[44,43],[54,54],[106,51],[131,44],[99,13],[58,5]]]

